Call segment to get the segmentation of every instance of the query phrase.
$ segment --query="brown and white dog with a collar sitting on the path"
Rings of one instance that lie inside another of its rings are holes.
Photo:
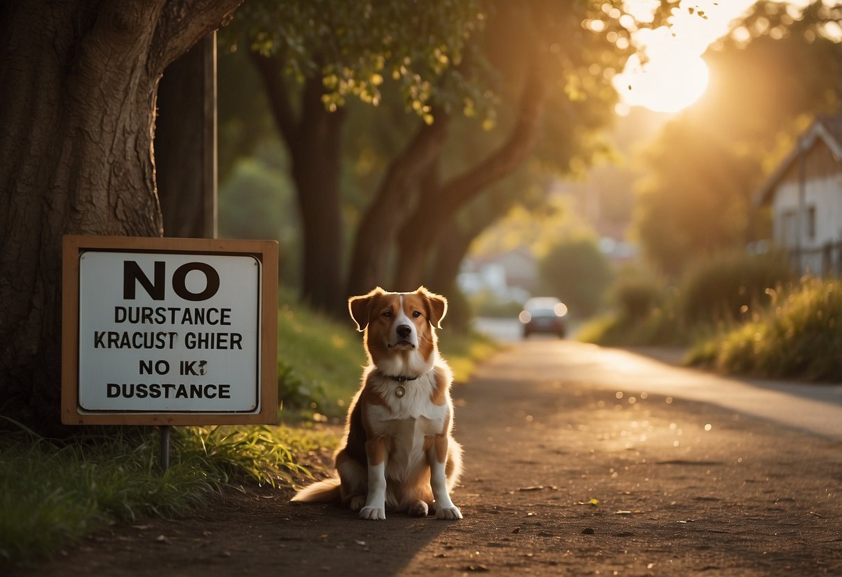
[[[349,299],[348,308],[364,332],[369,364],[336,453],[338,478],[292,500],[341,502],[363,519],[433,509],[439,519],[461,519],[450,500],[461,473],[461,447],[451,436],[453,377],[435,336],[447,299],[424,287],[413,293],[377,287]]]

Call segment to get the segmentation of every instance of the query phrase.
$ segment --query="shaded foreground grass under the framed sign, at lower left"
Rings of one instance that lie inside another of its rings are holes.
[[[0,568],[43,558],[113,521],[183,516],[229,484],[277,486],[332,433],[301,427],[173,427],[171,465],[157,431],[107,429],[58,442],[0,438]]]

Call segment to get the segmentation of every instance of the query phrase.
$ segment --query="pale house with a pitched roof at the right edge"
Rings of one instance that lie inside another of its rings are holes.
[[[842,116],[822,117],[754,197],[772,213],[772,241],[801,273],[842,273]]]

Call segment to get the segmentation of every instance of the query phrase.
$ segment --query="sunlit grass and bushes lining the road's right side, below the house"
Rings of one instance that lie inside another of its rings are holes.
[[[579,332],[607,346],[684,346],[686,363],[757,378],[842,381],[842,283],[790,283],[771,257],[727,256],[701,263],[666,298],[633,284],[645,306],[616,306]],[[641,296],[642,295],[642,296]]]

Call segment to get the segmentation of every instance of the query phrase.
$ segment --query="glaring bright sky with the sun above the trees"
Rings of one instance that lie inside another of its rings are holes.
[[[707,66],[701,55],[708,45],[727,33],[754,0],[681,0],[671,29],[640,29],[635,40],[648,61],[632,56],[615,79],[622,102],[618,114],[633,106],[672,113],[695,102],[707,86]],[[647,19],[658,0],[626,0],[626,12]],[[704,16],[704,18],[703,18]],[[649,18],[651,20],[651,17]]]

